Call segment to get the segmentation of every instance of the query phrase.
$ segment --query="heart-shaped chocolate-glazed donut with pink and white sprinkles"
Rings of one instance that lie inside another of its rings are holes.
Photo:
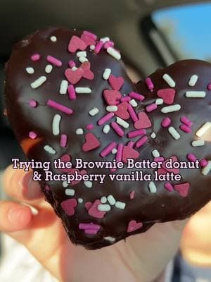
[[[211,199],[210,90],[211,65],[195,60],[134,85],[113,42],[87,31],[49,27],[15,45],[6,107],[23,151],[51,161],[54,174],[89,176],[71,185],[44,180],[36,169],[72,243],[111,245],[154,223],[185,219]],[[53,168],[59,158],[72,168]],[[79,167],[77,159],[113,166]],[[90,178],[105,173],[113,178]]]

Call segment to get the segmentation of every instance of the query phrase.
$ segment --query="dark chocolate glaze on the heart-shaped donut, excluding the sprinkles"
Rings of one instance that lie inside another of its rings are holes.
[[[50,37],[54,35],[57,37],[57,42],[51,42]],[[101,158],[99,153],[110,142],[122,142],[124,145],[129,141],[127,132],[135,130],[132,120],[129,118],[127,122],[130,124],[129,129],[124,130],[123,137],[119,137],[112,129],[106,135],[102,132],[103,126],[97,125],[97,121],[101,116],[107,114],[106,101],[103,99],[103,90],[111,89],[108,80],[104,80],[102,75],[105,68],[110,68],[112,74],[115,76],[122,76],[124,78],[124,85],[120,89],[122,94],[128,94],[131,91],[143,94],[146,99],[143,102],[138,102],[139,106],[136,112],[143,111],[148,104],[155,102],[158,98],[157,91],[163,88],[170,88],[167,82],[162,79],[162,75],[169,74],[176,82],[176,95],[174,104],[180,104],[181,110],[162,114],[160,109],[167,104],[158,106],[158,109],[148,113],[151,118],[152,127],[148,128],[147,135],[149,141],[143,147],[137,149],[140,152],[140,157],[136,161],[143,159],[153,160],[151,154],[153,149],[158,149],[160,155],[168,158],[172,155],[177,155],[179,161],[187,161],[186,154],[189,152],[196,155],[198,159],[207,159],[211,157],[210,140],[206,135],[207,142],[203,147],[192,147],[191,142],[197,140],[195,133],[205,122],[210,121],[210,101],[211,93],[207,90],[207,85],[211,80],[211,65],[204,61],[188,60],[180,61],[174,65],[161,69],[153,73],[150,78],[155,85],[154,90],[148,90],[146,82],[139,82],[134,85],[127,76],[124,63],[117,61],[110,56],[105,49],[101,50],[99,54],[95,54],[87,47],[87,58],[91,63],[91,71],[94,73],[93,80],[82,78],[75,85],[76,87],[90,87],[91,94],[77,94],[76,100],[70,100],[68,94],[59,94],[60,81],[65,79],[65,70],[68,68],[68,61],[73,60],[80,65],[76,54],[71,54],[68,51],[68,43],[72,35],[80,36],[80,32],[70,31],[65,28],[49,27],[45,30],[34,33],[29,37],[23,39],[13,48],[11,59],[8,61],[8,68],[6,71],[6,106],[8,118],[14,130],[15,136],[22,145],[28,159],[35,161],[53,161],[63,154],[70,154],[72,161],[75,158],[82,158],[84,161],[111,161],[114,159],[113,154],[109,154],[105,159]],[[41,59],[39,61],[31,61],[33,54],[39,53]],[[63,62],[63,66],[53,66],[51,73],[45,73],[45,66],[48,64],[46,56],[55,56]],[[34,74],[30,75],[25,71],[27,67],[34,68]],[[188,86],[188,80],[191,75],[198,75],[198,82],[196,86]],[[30,83],[39,78],[41,75],[46,75],[47,80],[43,85],[37,89],[32,89]],[[206,91],[205,98],[191,99],[184,96],[186,91],[200,90]],[[29,106],[30,99],[35,99],[38,102],[36,108]],[[60,104],[70,107],[73,110],[72,115],[67,115],[59,112],[56,109],[51,109],[46,105],[48,99],[52,99]],[[89,110],[93,107],[99,109],[99,114],[92,117],[89,115]],[[62,116],[60,123],[60,133],[68,135],[68,145],[65,148],[60,147],[60,135],[54,136],[52,134],[52,120],[55,114]],[[181,135],[179,140],[174,140],[166,128],[160,126],[165,116],[172,119],[172,126],[177,128]],[[179,130],[179,121],[181,116],[187,116],[193,121],[192,133],[186,134]],[[112,119],[115,121],[115,118]],[[84,143],[84,135],[76,135],[77,128],[83,128],[84,133],[86,125],[94,124],[94,133],[101,146],[90,152],[83,152],[82,144]],[[110,121],[108,122],[110,123]],[[34,131],[38,134],[39,142],[32,145],[28,134]],[[152,139],[151,133],[155,132],[157,137]],[[132,141],[138,140],[135,137]],[[24,142],[23,142],[24,140]],[[27,142],[25,141],[27,140]],[[27,148],[27,145],[30,148]],[[56,154],[49,154],[44,151],[44,145],[51,145],[56,150]],[[51,169],[58,173],[58,171]],[[121,173],[130,173],[133,170],[122,169]],[[39,171],[43,173],[43,171]],[[110,173],[105,170],[88,170],[88,173]],[[120,171],[117,171],[120,173]],[[145,170],[144,173],[153,173],[153,170]],[[179,192],[173,190],[169,192],[164,188],[164,182],[156,182],[157,192],[151,193],[148,189],[148,182],[118,182],[106,181],[106,183],[93,183],[92,188],[87,188],[83,182],[78,183],[73,188],[75,195],[72,198],[82,198],[83,202],[78,203],[75,208],[75,214],[68,216],[63,211],[60,203],[68,200],[71,196],[65,195],[65,188],[61,182],[45,183],[41,181],[41,188],[44,192],[46,200],[52,205],[54,211],[63,222],[65,229],[70,237],[72,243],[84,245],[87,249],[96,249],[111,245],[112,242],[105,240],[105,237],[115,238],[115,242],[127,238],[127,236],[146,231],[156,222],[173,221],[177,219],[185,219],[198,211],[211,199],[211,176],[210,173],[204,176],[199,169],[181,170],[182,180],[180,183],[190,183],[187,197],[181,197]],[[45,189],[48,184],[50,190]],[[172,185],[178,183],[172,183]],[[129,197],[130,192],[135,191],[134,199]],[[97,219],[90,216],[87,209],[84,207],[85,202],[94,202],[96,199],[101,199],[103,196],[113,195],[116,200],[126,203],[124,209],[117,209],[112,207],[110,212],[107,212],[103,219]],[[142,222],[143,226],[134,232],[127,232],[129,221],[135,220]],[[79,230],[79,223],[96,223],[101,226],[96,235],[89,235]]]

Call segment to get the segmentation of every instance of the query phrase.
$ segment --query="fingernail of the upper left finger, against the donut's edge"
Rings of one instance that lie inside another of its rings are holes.
[[[27,200],[36,200],[43,197],[39,183],[32,178],[33,174],[29,172],[20,180],[20,185],[23,186],[23,196]]]

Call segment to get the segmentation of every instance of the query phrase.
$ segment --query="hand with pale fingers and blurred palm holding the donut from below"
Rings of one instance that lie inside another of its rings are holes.
[[[185,221],[157,223],[101,250],[72,245],[60,219],[45,202],[32,172],[4,173],[11,202],[0,202],[0,231],[27,247],[45,269],[64,282],[151,282],[176,254]],[[30,204],[37,209],[33,215]]]

